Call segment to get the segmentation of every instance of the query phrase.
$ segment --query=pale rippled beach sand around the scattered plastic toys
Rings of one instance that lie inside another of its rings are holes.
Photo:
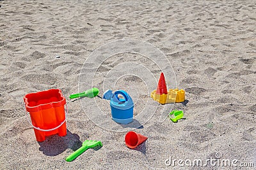
[[[170,169],[173,167],[165,164],[170,157],[207,160],[216,158],[216,153],[221,153],[221,159],[256,166],[255,1],[46,0],[0,4],[0,169]],[[136,120],[134,127],[141,124],[140,128],[115,124],[109,117],[108,101],[99,97],[68,99],[70,94],[83,92],[79,75],[81,70],[90,74],[90,69],[82,69],[90,54],[119,39],[150,43],[166,55],[175,74],[167,74],[166,81],[177,82],[179,89],[186,90],[185,103],[168,106],[183,110],[186,119],[177,124],[161,119],[164,106],[152,102],[148,85],[140,77],[120,77],[113,72],[106,78],[118,64],[137,62],[147,67],[154,76],[148,81],[157,85],[161,69],[136,53],[120,53],[103,61],[93,86],[100,89],[99,96],[106,90],[102,84],[106,79],[116,83],[111,90],[128,90],[135,103],[134,115],[140,115],[147,102],[158,106],[149,111],[145,124]],[[23,97],[54,88],[61,89],[67,98],[68,133],[38,143],[25,115]],[[101,113],[92,109],[95,103],[107,121],[101,127]],[[148,137],[136,150],[124,143],[131,129]],[[103,146],[65,162],[86,139],[100,140]],[[174,168],[182,167],[176,163]],[[235,168],[239,167],[230,167]]]

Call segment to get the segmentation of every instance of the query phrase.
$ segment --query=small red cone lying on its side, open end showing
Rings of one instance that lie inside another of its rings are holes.
[[[138,145],[141,145],[141,143],[143,143],[147,139],[148,138],[146,136],[130,131],[125,135],[125,145],[128,148],[134,149]]]

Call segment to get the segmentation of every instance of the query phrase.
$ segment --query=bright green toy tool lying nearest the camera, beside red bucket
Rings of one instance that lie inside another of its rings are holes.
[[[88,148],[94,148],[95,146],[101,147],[102,146],[101,141],[89,141],[89,140],[84,141],[81,148],[77,149],[74,153],[69,155],[66,158],[66,161],[71,162],[72,160],[76,159],[76,157],[81,155],[84,151],[88,150]]]

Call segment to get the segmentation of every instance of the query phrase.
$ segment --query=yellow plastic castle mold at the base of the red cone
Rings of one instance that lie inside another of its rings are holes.
[[[156,90],[154,90],[151,92],[150,97],[161,104],[180,103],[185,101],[185,90],[169,89],[168,94],[156,94]]]

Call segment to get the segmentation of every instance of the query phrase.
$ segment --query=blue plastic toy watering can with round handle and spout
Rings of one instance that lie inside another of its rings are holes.
[[[123,96],[124,99],[118,97]],[[103,94],[103,99],[110,100],[112,119],[119,124],[129,124],[133,120],[134,104],[131,96],[124,90],[118,90],[115,93],[107,90]]]

